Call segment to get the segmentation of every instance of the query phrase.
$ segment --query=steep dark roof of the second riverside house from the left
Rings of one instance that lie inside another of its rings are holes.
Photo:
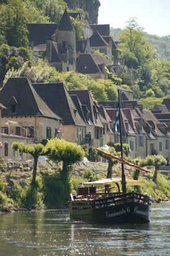
[[[64,125],[86,126],[63,83],[33,83],[32,86],[54,113],[62,117]]]

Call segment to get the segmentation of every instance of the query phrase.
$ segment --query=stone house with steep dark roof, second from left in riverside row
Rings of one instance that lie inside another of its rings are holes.
[[[80,116],[63,83],[34,83],[32,86],[48,107],[61,116],[63,139],[86,144],[86,121]]]

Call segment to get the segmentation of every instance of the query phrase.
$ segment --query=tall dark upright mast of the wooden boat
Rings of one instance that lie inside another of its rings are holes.
[[[121,107],[120,107],[120,89],[118,89],[118,111],[119,111],[119,125],[120,125],[120,145],[121,145],[121,158],[124,159],[124,149],[123,149],[123,140],[122,140],[122,124],[121,124]],[[125,178],[125,168],[124,163],[121,163],[122,166],[122,193],[126,193],[126,178]]]

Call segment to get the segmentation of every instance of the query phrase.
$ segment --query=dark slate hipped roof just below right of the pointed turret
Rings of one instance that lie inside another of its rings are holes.
[[[76,59],[76,70],[83,74],[101,73],[99,66],[91,54],[80,54]]]

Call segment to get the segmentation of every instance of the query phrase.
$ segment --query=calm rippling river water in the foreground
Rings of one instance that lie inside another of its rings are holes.
[[[142,225],[81,223],[67,210],[2,214],[0,255],[170,255],[170,203],[153,204]]]

